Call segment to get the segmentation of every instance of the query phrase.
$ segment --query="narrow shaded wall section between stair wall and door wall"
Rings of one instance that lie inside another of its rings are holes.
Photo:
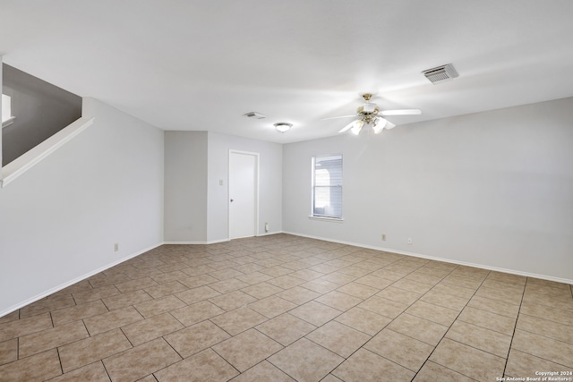
[[[165,242],[207,242],[207,132],[165,132]]]

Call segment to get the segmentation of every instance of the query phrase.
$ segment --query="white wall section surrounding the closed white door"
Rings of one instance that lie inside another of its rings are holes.
[[[282,231],[282,145],[209,132],[208,149],[208,242],[228,240],[228,166],[229,149],[259,153],[259,231],[265,234]],[[223,180],[223,185],[219,185]]]

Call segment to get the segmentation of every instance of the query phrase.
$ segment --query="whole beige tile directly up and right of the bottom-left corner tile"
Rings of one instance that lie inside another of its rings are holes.
[[[62,361],[62,369],[64,369],[64,373],[67,373],[131,347],[132,344],[127,340],[124,333],[120,329],[114,329],[73,344],[61,346],[58,352],[60,361]]]

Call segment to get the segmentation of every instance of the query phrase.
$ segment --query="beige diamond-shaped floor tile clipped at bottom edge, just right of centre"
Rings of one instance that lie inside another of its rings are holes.
[[[268,361],[296,381],[311,382],[324,378],[344,361],[344,358],[301,338],[269,357]]]

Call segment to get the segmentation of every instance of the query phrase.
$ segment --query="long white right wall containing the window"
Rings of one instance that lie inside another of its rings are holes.
[[[283,230],[573,283],[572,122],[564,98],[287,144]],[[330,153],[341,224],[308,217],[311,157]]]

